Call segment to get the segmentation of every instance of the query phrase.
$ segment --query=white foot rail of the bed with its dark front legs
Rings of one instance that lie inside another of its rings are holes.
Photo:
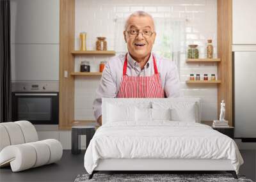
[[[105,171],[127,171],[132,173],[149,172],[149,173],[170,173],[180,172],[216,172],[226,171],[231,173],[237,179],[236,171],[232,166],[230,160],[212,160],[212,159],[124,159],[124,158],[109,158],[99,160],[95,170],[90,174],[89,179],[93,178],[93,174]]]

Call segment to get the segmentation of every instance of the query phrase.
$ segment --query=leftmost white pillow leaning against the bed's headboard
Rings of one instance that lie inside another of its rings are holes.
[[[135,107],[108,104],[107,122],[134,121]]]

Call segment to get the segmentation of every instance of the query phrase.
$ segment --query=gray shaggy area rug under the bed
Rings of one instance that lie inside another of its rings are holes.
[[[222,181],[243,181],[253,182],[251,179],[246,179],[244,176],[238,176],[239,179],[234,179],[232,174],[94,174],[92,179],[88,179],[89,174],[79,174],[75,182],[85,181],[171,181],[171,182],[190,182],[190,181],[207,181],[207,182],[222,182]]]

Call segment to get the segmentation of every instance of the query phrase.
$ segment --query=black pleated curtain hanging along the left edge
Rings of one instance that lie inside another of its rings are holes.
[[[0,1],[0,122],[11,121],[10,0]]]

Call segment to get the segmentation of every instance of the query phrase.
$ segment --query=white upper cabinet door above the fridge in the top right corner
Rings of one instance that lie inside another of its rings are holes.
[[[232,43],[256,45],[256,1],[232,1]],[[223,29],[225,31],[225,29]]]

